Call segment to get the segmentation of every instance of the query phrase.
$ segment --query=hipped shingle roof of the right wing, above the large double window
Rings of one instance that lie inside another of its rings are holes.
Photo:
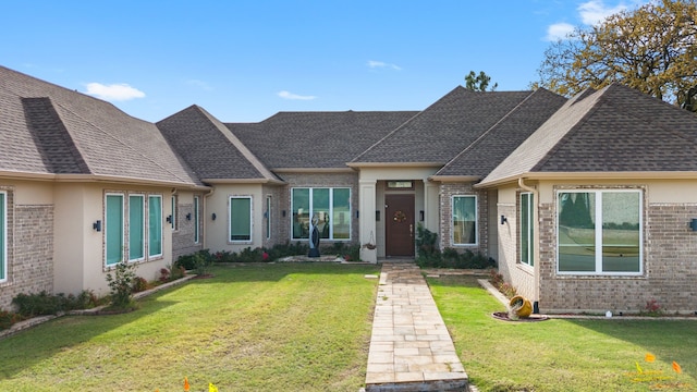
[[[697,114],[612,84],[567,101],[482,184],[530,172],[697,171]]]

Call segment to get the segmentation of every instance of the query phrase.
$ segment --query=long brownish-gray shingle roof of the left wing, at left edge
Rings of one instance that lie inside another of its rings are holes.
[[[199,185],[155,124],[0,66],[0,170]]]

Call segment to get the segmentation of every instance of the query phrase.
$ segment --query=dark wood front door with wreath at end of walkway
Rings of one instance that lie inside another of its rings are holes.
[[[384,196],[386,256],[414,256],[414,195]]]

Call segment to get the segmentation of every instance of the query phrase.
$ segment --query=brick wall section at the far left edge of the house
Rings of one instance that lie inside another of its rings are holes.
[[[53,206],[14,206],[8,192],[8,281],[0,283],[0,309],[20,293],[53,292]]]

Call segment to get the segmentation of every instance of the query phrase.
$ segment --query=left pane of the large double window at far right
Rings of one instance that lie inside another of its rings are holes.
[[[559,194],[559,271],[596,270],[595,193]]]

